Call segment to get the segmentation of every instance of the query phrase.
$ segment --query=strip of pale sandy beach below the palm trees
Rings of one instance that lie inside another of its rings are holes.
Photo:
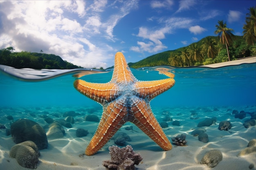
[[[208,65],[203,65],[203,66],[199,66],[199,67],[219,68],[219,67],[224,67],[224,66],[234,66],[234,65],[239,65],[239,64],[250,64],[250,63],[256,63],[256,56],[247,57],[247,58],[239,59],[239,60],[228,61],[228,62],[208,64]]]

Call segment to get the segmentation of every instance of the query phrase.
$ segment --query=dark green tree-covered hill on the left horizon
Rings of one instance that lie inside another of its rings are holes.
[[[13,52],[13,47],[0,49],[0,64],[14,68],[34,68],[34,69],[73,69],[82,68],[70,62],[62,60],[58,55],[45,53],[30,53],[22,51]]]

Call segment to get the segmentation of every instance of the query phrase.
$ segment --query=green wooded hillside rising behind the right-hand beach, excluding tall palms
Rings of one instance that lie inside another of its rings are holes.
[[[205,51],[202,47],[207,38],[213,40],[216,43],[216,49],[218,49],[218,53],[213,58],[208,57],[207,51]],[[192,59],[190,59],[188,64],[188,62],[184,61],[184,59],[182,59],[180,55],[182,54],[183,49],[187,51],[192,44],[200,49],[200,53],[203,59],[202,61],[193,61]],[[218,36],[208,36],[192,44],[176,50],[157,53],[149,57],[146,57],[145,59],[140,60],[139,62],[129,63],[128,65],[131,68],[141,68],[141,67],[159,66],[159,65],[198,66],[198,65],[206,65],[206,64],[213,64],[213,63],[228,61],[226,46],[224,44],[220,44],[220,39],[218,38]],[[229,54],[231,55],[231,60],[236,60],[237,58],[256,55],[255,49],[256,49],[256,46],[248,45],[243,39],[243,36],[235,36],[232,45],[229,46]],[[179,60],[178,65],[173,65],[170,63],[170,60],[168,61],[168,59],[171,57],[171,54],[177,57],[177,60]]]

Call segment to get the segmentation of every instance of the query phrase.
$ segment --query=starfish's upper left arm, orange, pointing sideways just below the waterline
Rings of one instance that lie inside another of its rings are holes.
[[[112,83],[90,83],[81,79],[74,81],[74,87],[83,95],[100,104],[110,102],[117,97],[117,88]]]

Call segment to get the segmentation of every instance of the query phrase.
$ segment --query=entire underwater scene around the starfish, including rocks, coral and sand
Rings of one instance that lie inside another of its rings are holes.
[[[74,81],[107,83],[112,69],[0,65],[0,169],[256,169],[256,63],[130,70],[139,81],[169,78],[159,70],[175,75],[174,86],[150,102],[171,150],[126,122],[98,152],[85,155],[103,107],[79,93]]]

